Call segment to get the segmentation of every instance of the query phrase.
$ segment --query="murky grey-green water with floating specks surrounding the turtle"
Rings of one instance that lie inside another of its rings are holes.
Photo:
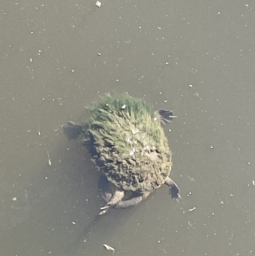
[[[254,255],[253,1],[95,2],[2,1],[1,255]],[[61,125],[123,91],[175,110],[182,199],[95,218],[98,173]]]

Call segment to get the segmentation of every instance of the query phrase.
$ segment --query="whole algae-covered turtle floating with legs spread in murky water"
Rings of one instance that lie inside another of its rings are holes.
[[[172,198],[180,197],[170,178],[172,153],[161,125],[175,118],[172,111],[154,111],[129,94],[105,94],[87,109],[91,116],[82,124],[69,121],[62,127],[69,139],[84,138],[101,171],[98,186],[106,204],[99,215],[136,206],[163,184]]]

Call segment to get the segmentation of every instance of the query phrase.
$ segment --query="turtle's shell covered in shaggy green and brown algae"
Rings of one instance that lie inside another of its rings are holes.
[[[89,111],[85,144],[108,181],[140,193],[159,188],[170,175],[171,151],[149,105],[128,94],[107,94]]]

